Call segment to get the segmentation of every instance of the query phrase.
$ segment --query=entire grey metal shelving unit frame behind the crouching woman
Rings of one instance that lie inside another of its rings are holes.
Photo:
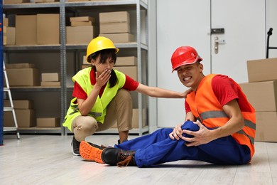
[[[43,3],[43,4],[10,4],[4,5],[4,13],[6,14],[30,14],[30,12],[41,11],[53,11],[60,14],[60,45],[53,46],[4,46],[4,52],[6,58],[9,61],[10,53],[23,53],[26,51],[32,51],[35,53],[47,53],[57,52],[60,53],[60,88],[41,88],[41,87],[12,87],[12,92],[28,92],[28,93],[45,93],[54,92],[60,94],[60,118],[63,122],[63,117],[68,108],[72,95],[73,84],[70,83],[72,74],[75,74],[77,70],[80,70],[80,54],[84,53],[87,45],[67,45],[66,44],[66,19],[71,16],[82,16],[85,14],[93,14],[96,16],[96,20],[100,12],[109,11],[129,11],[131,13],[131,31],[134,32],[136,41],[131,43],[115,43],[116,47],[120,48],[120,54],[126,55],[131,53],[138,59],[138,81],[143,84],[147,83],[147,63],[148,63],[148,21],[147,1],[142,0],[115,0],[115,1],[78,1],[67,2],[67,0],[60,0],[55,3]],[[99,19],[99,18],[98,18]],[[124,54],[125,53],[125,54]],[[72,56],[73,54],[73,56]],[[72,59],[73,58],[73,59]],[[73,60],[70,62],[70,60]],[[79,61],[79,64],[78,64]],[[74,66],[72,66],[74,65]],[[72,70],[73,69],[73,70]],[[143,110],[148,109],[148,102],[145,95],[140,93],[131,93],[136,107],[139,109],[139,128],[130,130],[133,134],[143,134],[148,132],[147,126],[147,113],[143,116]],[[146,126],[143,127],[143,122],[146,122]],[[61,133],[67,134],[68,130],[64,127],[59,128],[19,128],[19,132],[25,133]],[[118,133],[117,129],[108,129],[102,133]]]

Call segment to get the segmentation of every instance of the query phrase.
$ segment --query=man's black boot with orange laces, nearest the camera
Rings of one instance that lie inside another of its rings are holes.
[[[112,166],[137,166],[135,161],[135,151],[124,151],[116,148],[106,148],[102,151],[102,161]]]

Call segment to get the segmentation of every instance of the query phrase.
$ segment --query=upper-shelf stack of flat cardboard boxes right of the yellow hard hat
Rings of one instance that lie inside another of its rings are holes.
[[[100,34],[114,43],[128,43],[134,41],[130,33],[130,16],[128,11],[114,11],[99,14]]]

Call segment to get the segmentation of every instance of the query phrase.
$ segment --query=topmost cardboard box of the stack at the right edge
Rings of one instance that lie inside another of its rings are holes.
[[[277,80],[277,58],[248,60],[247,70],[249,83]]]

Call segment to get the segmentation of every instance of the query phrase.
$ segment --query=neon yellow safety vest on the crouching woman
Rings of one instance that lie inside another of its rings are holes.
[[[87,93],[87,96],[89,96],[89,93],[94,88],[94,85],[92,85],[90,81],[91,70],[92,68],[85,68],[83,70],[80,70],[76,75],[72,77],[72,81],[74,83],[77,82],[85,91],[85,93]],[[92,110],[90,110],[88,114],[89,116],[94,117],[97,122],[104,122],[104,117],[106,115],[109,102],[112,101],[112,99],[116,96],[117,91],[121,89],[125,84],[126,76],[124,75],[124,73],[121,73],[118,70],[114,70],[114,73],[116,74],[118,80],[116,85],[114,85],[114,87],[112,88],[109,88],[109,82],[107,83],[102,97],[100,98],[98,95],[97,100],[92,107]],[[63,126],[67,127],[71,131],[72,121],[75,119],[75,117],[79,115],[81,115],[81,113],[78,109],[77,97],[74,97],[71,100],[70,107],[68,108],[67,114],[65,115]]]

